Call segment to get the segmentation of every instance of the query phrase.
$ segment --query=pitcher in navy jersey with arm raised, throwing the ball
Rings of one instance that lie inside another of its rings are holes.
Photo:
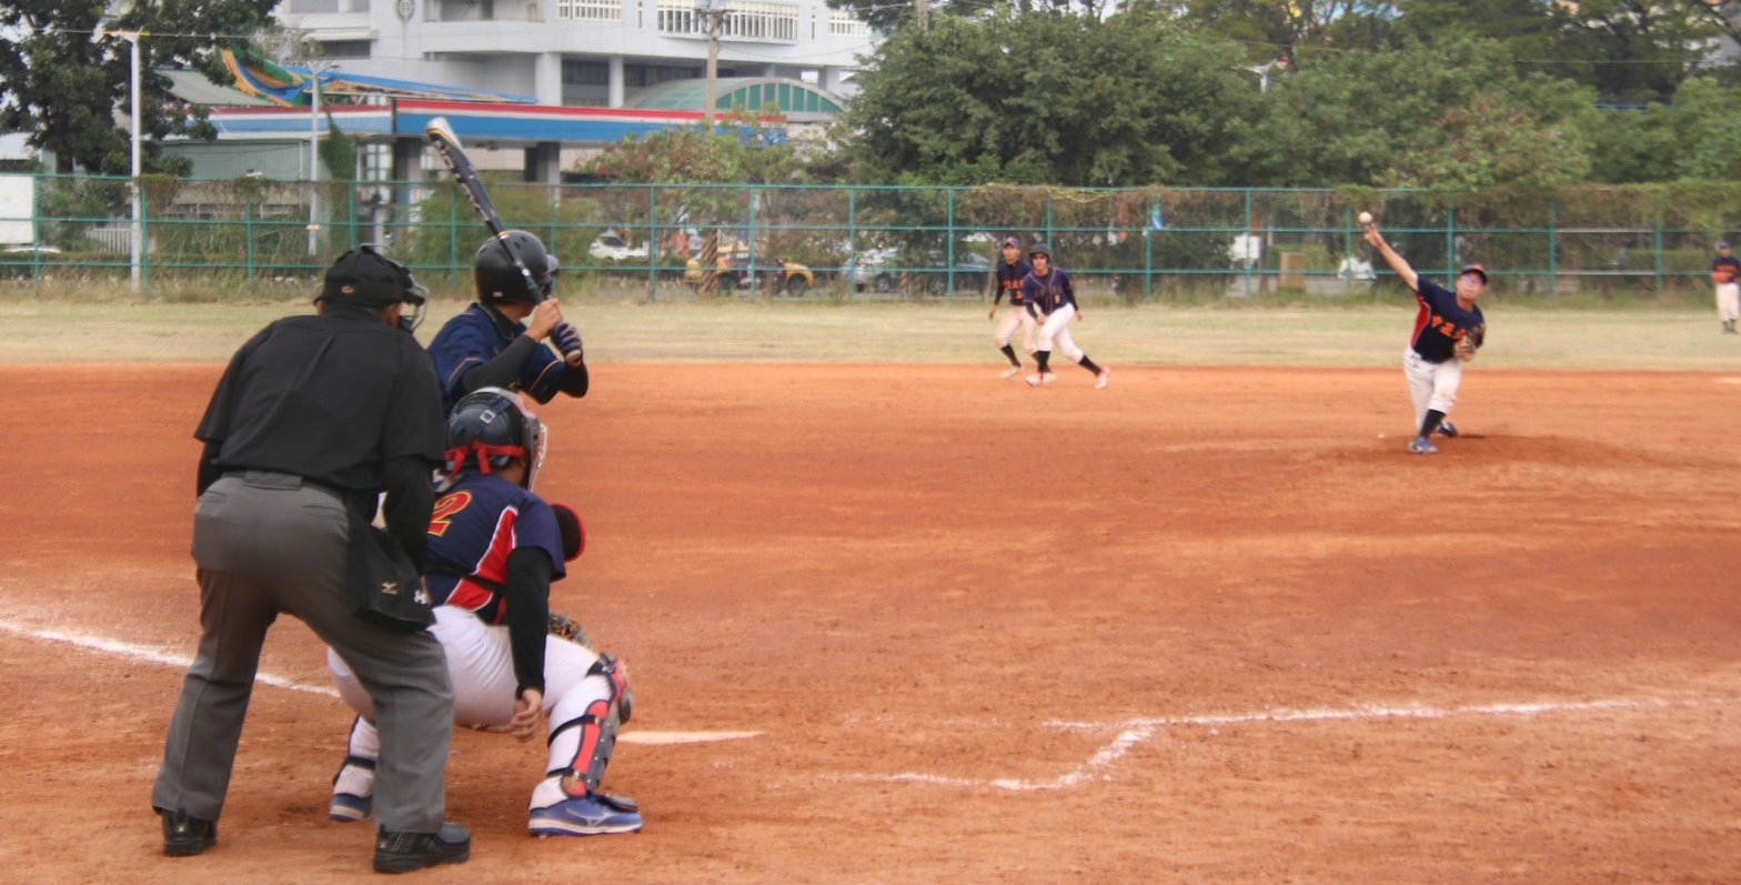
[[[1415,314],[1414,336],[1403,354],[1403,373],[1408,376],[1408,394],[1415,406],[1415,437],[1408,451],[1436,455],[1433,436],[1454,437],[1457,427],[1449,420],[1462,385],[1462,364],[1475,359],[1476,348],[1487,338],[1487,321],[1476,307],[1487,291],[1487,268],[1468,265],[1457,274],[1457,291],[1422,279],[1391,244],[1384,242],[1379,226],[1367,225],[1367,244],[1384,258],[1384,263],[1414,291],[1421,310]]]

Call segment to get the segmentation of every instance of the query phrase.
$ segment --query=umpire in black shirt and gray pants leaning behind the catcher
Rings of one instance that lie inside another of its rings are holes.
[[[266,629],[287,611],[355,671],[380,714],[374,869],[463,862],[470,833],[444,824],[453,690],[428,632],[353,615],[348,526],[387,491],[388,531],[421,568],[442,463],[440,387],[409,334],[423,291],[364,246],[326,274],[315,315],[266,326],[230,359],[193,434],[205,448],[193,510],[200,648],[164,742],[151,805],[164,854],[218,841]],[[360,517],[360,523],[359,523]]]

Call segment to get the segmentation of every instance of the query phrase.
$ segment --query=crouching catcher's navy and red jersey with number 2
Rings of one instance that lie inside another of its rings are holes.
[[[508,554],[524,547],[550,554],[550,580],[568,575],[562,530],[543,498],[494,474],[465,474],[430,517],[430,596],[507,624]]]

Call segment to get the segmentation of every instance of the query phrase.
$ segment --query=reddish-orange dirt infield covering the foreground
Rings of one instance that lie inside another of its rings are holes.
[[[0,368],[0,882],[352,882],[350,716],[284,622],[219,845],[148,810],[219,366]],[[421,882],[1741,882],[1741,375],[613,366],[541,491],[632,669],[637,836],[531,840],[461,732]],[[705,737],[705,735],[703,735]]]

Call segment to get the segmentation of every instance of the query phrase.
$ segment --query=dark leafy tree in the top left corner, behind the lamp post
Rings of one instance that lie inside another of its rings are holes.
[[[146,31],[139,40],[139,122],[146,171],[185,172],[160,159],[158,141],[212,138],[198,108],[169,94],[153,64],[218,71],[211,49],[245,45],[277,0],[160,0],[132,3],[106,17],[104,0],[7,0],[0,3],[0,131],[30,132],[30,145],[54,152],[56,171],[127,174],[132,167],[127,124],[131,45],[118,31]],[[104,37],[97,33],[104,31]],[[212,77],[218,82],[218,77]]]

